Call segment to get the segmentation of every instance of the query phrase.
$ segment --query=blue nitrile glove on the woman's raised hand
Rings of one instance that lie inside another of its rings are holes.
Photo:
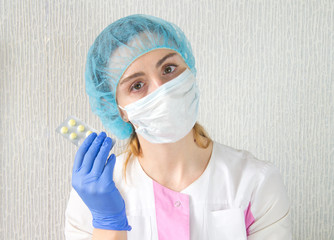
[[[72,172],[72,186],[87,205],[95,228],[130,231],[124,200],[113,181],[115,155],[107,164],[112,139],[106,133],[90,134],[78,149]]]

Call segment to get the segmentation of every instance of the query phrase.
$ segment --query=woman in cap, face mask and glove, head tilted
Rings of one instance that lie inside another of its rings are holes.
[[[177,26],[143,14],[117,20],[90,48],[85,77],[92,110],[129,144],[109,156],[102,132],[80,146],[67,239],[291,239],[278,169],[212,141],[196,122],[195,60]]]

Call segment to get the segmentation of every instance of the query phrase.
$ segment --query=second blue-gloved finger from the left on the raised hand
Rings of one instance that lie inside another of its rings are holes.
[[[101,145],[104,141],[104,139],[106,138],[106,133],[105,132],[101,132],[93,141],[93,143],[90,145],[88,151],[85,154],[84,160],[82,162],[82,166],[81,166],[81,171],[83,173],[89,173],[90,170],[92,169],[93,163],[95,161],[95,158],[97,156],[97,154],[100,151]]]

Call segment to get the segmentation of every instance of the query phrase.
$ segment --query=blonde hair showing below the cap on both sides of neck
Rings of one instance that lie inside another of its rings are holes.
[[[194,141],[196,142],[197,146],[201,148],[207,148],[212,142],[211,138],[205,131],[204,127],[197,122],[193,127],[193,134],[194,134]],[[139,140],[135,131],[132,132],[127,147],[123,153],[126,154],[126,159],[123,167],[123,175],[126,181],[126,168],[129,161],[133,160],[133,157],[142,156]]]

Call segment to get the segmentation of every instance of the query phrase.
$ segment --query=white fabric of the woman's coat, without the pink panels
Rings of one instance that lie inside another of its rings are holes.
[[[132,226],[127,239],[158,240],[153,180],[134,159],[126,183],[124,161],[124,155],[117,157],[114,181]],[[191,240],[292,239],[290,204],[278,168],[247,151],[214,142],[207,168],[181,193],[189,195]],[[254,220],[248,229],[247,209]],[[73,188],[65,217],[67,240],[92,238],[92,215]]]

